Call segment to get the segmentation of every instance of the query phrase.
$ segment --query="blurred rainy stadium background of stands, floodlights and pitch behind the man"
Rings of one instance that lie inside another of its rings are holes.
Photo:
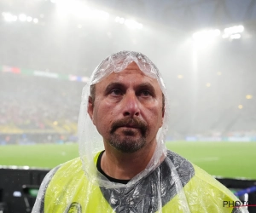
[[[121,50],[162,73],[167,148],[256,204],[255,49],[255,0],[1,0],[0,212],[31,212],[49,169],[79,156],[82,89]]]

